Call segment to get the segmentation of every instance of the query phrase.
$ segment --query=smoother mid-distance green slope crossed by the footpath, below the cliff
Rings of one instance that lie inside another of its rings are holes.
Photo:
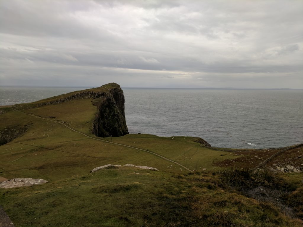
[[[82,175],[96,166],[109,163],[153,166],[171,172],[187,171],[150,153],[94,140],[55,122],[63,122],[72,129],[98,138],[90,133],[96,111],[90,99],[71,100],[22,111],[11,110],[0,115],[4,119],[2,128],[30,124],[21,137],[0,146],[0,176],[5,178],[15,176],[57,180],[75,174]],[[165,138],[140,134],[104,140],[152,151],[189,169],[213,170],[217,168],[212,165],[213,162],[235,158],[228,152],[220,156],[222,151],[209,150],[194,143],[195,138],[192,137]]]

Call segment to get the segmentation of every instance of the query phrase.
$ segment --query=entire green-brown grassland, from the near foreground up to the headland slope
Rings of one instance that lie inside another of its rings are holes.
[[[0,204],[16,226],[302,226],[301,173],[277,174],[283,206],[294,209],[291,216],[270,201],[247,198],[222,175],[230,166],[253,168],[279,149],[214,150],[194,137],[96,137],[90,133],[96,112],[92,98],[45,104],[76,93],[0,108],[0,130],[26,128],[0,146],[0,177],[50,181],[0,189]],[[287,152],[301,165],[296,158],[301,148]],[[286,160],[285,153],[279,157],[275,163]],[[106,164],[159,171],[121,167],[90,173]]]

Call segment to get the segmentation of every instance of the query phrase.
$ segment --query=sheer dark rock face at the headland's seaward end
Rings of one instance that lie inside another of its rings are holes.
[[[128,134],[124,113],[124,95],[118,84],[111,86],[102,97],[95,98],[93,105],[98,107],[93,122],[92,133],[98,137],[118,137]]]

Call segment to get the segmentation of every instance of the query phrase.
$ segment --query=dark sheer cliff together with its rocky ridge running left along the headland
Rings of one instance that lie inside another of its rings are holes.
[[[77,99],[92,99],[97,107],[91,132],[98,137],[118,137],[128,134],[124,113],[124,94],[120,85],[116,83],[105,84],[101,87],[74,91],[67,94],[39,100],[28,104],[16,104],[12,108],[17,110],[33,109],[50,104],[58,104]],[[7,133],[3,133],[7,134]],[[10,138],[15,138],[13,133]],[[1,135],[1,134],[0,134]],[[3,136],[4,137],[4,136]],[[7,138],[3,141],[9,142]]]

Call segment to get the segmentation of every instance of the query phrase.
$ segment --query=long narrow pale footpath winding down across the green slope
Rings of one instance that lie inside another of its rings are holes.
[[[11,108],[11,109],[12,109],[12,110],[16,110],[16,109],[14,109],[14,108]],[[160,158],[162,158],[162,159],[164,159],[164,160],[166,160],[166,161],[175,163],[175,164],[181,166],[182,168],[184,168],[184,169],[186,169],[186,170],[192,172],[192,170],[190,170],[190,169],[188,169],[187,167],[181,165],[180,163],[177,163],[177,162],[175,162],[175,161],[173,161],[173,160],[171,160],[171,159],[165,158],[164,156],[161,156],[161,155],[159,155],[159,154],[157,154],[157,153],[154,153],[154,152],[151,152],[151,151],[148,151],[148,150],[144,150],[144,149],[141,149],[141,148],[138,148],[138,147],[134,147],[134,146],[128,146],[128,145],[125,145],[125,144],[122,144],[122,143],[115,143],[115,142],[110,142],[110,141],[107,141],[107,140],[102,140],[102,139],[94,138],[94,137],[88,136],[88,135],[86,135],[86,134],[84,134],[84,133],[82,133],[82,132],[79,132],[79,131],[77,131],[77,130],[75,130],[75,129],[72,129],[71,127],[68,127],[66,124],[64,124],[64,123],[62,123],[62,122],[60,122],[60,121],[50,120],[50,119],[47,119],[47,118],[44,118],[44,117],[38,117],[38,116],[35,116],[35,115],[33,115],[33,114],[30,114],[30,113],[22,112],[22,111],[20,111],[20,110],[16,110],[16,111],[18,111],[18,112],[20,112],[20,113],[24,113],[24,114],[30,115],[30,116],[32,116],[32,117],[37,117],[37,118],[41,118],[41,119],[43,119],[43,120],[48,120],[48,121],[52,121],[52,122],[55,122],[55,123],[62,124],[62,125],[64,125],[65,127],[67,127],[68,129],[73,130],[73,131],[76,132],[76,133],[80,133],[80,134],[82,134],[83,136],[88,137],[88,138],[91,138],[91,139],[94,139],[94,140],[100,140],[100,141],[103,141],[103,142],[106,142],[106,143],[112,143],[112,144],[116,144],[116,145],[119,145],[119,146],[126,146],[126,147],[133,148],[133,149],[136,149],[136,150],[141,150],[141,151],[144,151],[144,152],[148,152],[148,153],[153,154],[153,155],[155,155],[155,156],[158,156],[158,157],[160,157]]]

